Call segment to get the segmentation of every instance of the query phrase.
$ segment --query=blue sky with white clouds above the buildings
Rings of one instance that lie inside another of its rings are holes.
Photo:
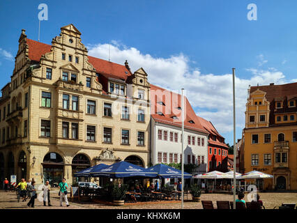
[[[38,5],[48,6],[40,42],[74,24],[89,54],[148,72],[149,81],[185,87],[199,116],[232,138],[231,68],[236,68],[237,137],[244,127],[248,85],[296,82],[297,1],[0,1],[1,86],[10,81],[21,29],[38,39]],[[247,19],[257,5],[257,21]],[[159,66],[155,66],[158,63]],[[162,66],[163,65],[163,66]],[[157,68],[156,68],[157,67]],[[171,78],[171,82],[168,79]]]

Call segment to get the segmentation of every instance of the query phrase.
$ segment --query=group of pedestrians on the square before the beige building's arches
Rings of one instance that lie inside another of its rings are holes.
[[[5,178],[3,183],[4,183],[4,190],[5,192],[7,192],[9,187],[9,182],[7,178]],[[29,202],[27,203],[27,206],[31,206],[32,208],[34,208],[35,199],[37,199],[37,190],[35,185],[36,185],[36,182],[34,178],[32,178],[32,180],[29,179],[27,181],[24,178],[22,178],[21,182],[18,183],[17,186],[15,187],[15,188],[19,188],[20,190],[20,197],[22,197],[22,202],[26,201],[26,199],[30,199]],[[43,185],[42,190],[43,190],[43,206],[46,206],[46,203],[48,204],[48,206],[52,206],[50,204],[51,186],[48,180]],[[59,197],[60,197],[61,206],[63,206],[63,201],[65,201],[67,207],[70,206],[67,199],[67,194],[68,194],[67,190],[68,190],[68,184],[66,183],[66,179],[63,178],[62,182],[59,183]]]

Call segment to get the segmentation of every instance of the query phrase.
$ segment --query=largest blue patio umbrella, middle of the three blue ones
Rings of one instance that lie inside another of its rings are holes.
[[[148,171],[143,167],[139,167],[130,162],[116,162],[106,168],[99,171],[91,171],[92,177],[109,177],[109,178],[123,178],[123,177],[148,177],[154,178],[157,176],[156,172]]]

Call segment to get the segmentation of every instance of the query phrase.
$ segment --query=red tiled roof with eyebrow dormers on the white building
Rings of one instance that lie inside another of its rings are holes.
[[[152,118],[160,123],[181,126],[181,110],[178,110],[178,107],[181,107],[181,95],[162,89],[153,84],[150,86]],[[165,97],[165,95],[162,96],[162,94],[168,94],[168,96]],[[159,105],[158,102],[163,102],[165,105]],[[187,98],[185,98],[185,108],[185,128],[208,133],[199,122],[199,119],[197,118]],[[156,114],[157,112],[162,112],[164,116]],[[176,116],[178,119],[173,119],[172,116]],[[194,123],[189,123],[189,121],[194,121]]]

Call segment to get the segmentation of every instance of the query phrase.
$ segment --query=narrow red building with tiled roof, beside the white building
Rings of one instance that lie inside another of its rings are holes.
[[[208,131],[208,171],[228,171],[228,146],[224,143],[224,137],[213,126],[213,123],[199,118],[201,125]]]

